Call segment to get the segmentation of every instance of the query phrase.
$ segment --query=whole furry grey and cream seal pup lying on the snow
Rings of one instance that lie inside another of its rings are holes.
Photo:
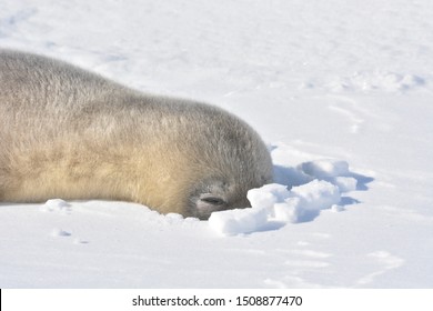
[[[271,180],[265,144],[229,112],[0,50],[0,201],[122,200],[205,220]]]

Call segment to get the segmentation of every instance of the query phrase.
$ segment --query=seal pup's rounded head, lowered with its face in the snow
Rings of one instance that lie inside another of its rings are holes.
[[[158,120],[152,129],[160,151],[139,170],[150,172],[144,180],[151,182],[135,201],[162,213],[207,220],[214,211],[250,207],[248,191],[272,182],[266,146],[231,113],[177,102]]]

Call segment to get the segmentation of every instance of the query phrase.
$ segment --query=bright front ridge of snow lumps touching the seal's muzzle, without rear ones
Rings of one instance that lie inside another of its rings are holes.
[[[302,222],[340,202],[336,185],[313,180],[288,190],[285,185],[271,183],[251,189],[246,198],[251,209],[213,212],[209,225],[223,235],[260,231],[270,222]]]

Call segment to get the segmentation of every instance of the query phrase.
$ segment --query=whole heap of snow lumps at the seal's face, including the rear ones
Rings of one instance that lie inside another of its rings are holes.
[[[341,193],[356,190],[358,180],[352,177],[349,163],[341,160],[320,159],[303,162],[294,175],[302,184],[289,187],[282,183],[251,189],[248,199],[251,209],[213,212],[209,225],[223,235],[252,233],[275,228],[275,224],[311,221],[321,210],[343,211],[339,205]]]

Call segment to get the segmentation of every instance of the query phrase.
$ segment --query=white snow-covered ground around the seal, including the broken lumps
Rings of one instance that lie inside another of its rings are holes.
[[[203,100],[275,184],[210,221],[0,204],[1,288],[432,288],[430,0],[0,0],[0,47]],[[2,148],[2,147],[0,147]]]

